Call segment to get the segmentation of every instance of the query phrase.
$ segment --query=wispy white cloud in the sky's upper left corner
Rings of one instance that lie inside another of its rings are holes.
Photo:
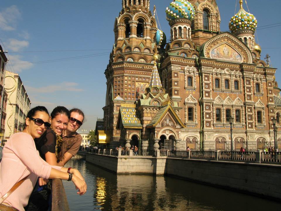
[[[20,16],[16,5],[5,8],[0,12],[0,29],[4,31],[16,30],[16,23]]]

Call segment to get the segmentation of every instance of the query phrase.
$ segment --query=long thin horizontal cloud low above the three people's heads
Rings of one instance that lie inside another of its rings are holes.
[[[49,86],[42,86],[42,87],[31,87],[31,86],[26,86],[26,90],[28,92],[32,93],[54,93],[57,91],[70,91],[70,92],[81,92],[84,91],[83,89],[78,89],[77,86],[78,83],[74,82],[62,82],[60,84],[53,84]]]

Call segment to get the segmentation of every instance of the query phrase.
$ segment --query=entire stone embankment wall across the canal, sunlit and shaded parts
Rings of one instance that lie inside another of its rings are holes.
[[[86,161],[117,174],[167,174],[217,187],[281,199],[281,165],[91,153],[87,153]]]

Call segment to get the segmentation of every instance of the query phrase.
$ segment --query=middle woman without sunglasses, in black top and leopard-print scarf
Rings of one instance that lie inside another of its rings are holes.
[[[52,111],[49,119],[51,122],[50,128],[40,138],[35,139],[35,146],[40,156],[50,165],[58,166],[58,162],[64,159],[62,133],[66,130],[69,118],[69,110],[64,106],[57,106]],[[40,185],[45,183],[47,185]],[[39,178],[25,210],[51,209],[51,193],[51,181]]]

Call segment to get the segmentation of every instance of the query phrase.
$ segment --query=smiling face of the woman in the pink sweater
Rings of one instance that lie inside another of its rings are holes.
[[[44,111],[37,111],[33,118],[39,118],[42,119],[44,122],[49,122],[49,114]],[[40,138],[41,135],[47,130],[44,124],[40,126],[36,125],[34,120],[30,120],[29,118],[26,118],[25,124],[25,132],[31,135],[33,139]]]

